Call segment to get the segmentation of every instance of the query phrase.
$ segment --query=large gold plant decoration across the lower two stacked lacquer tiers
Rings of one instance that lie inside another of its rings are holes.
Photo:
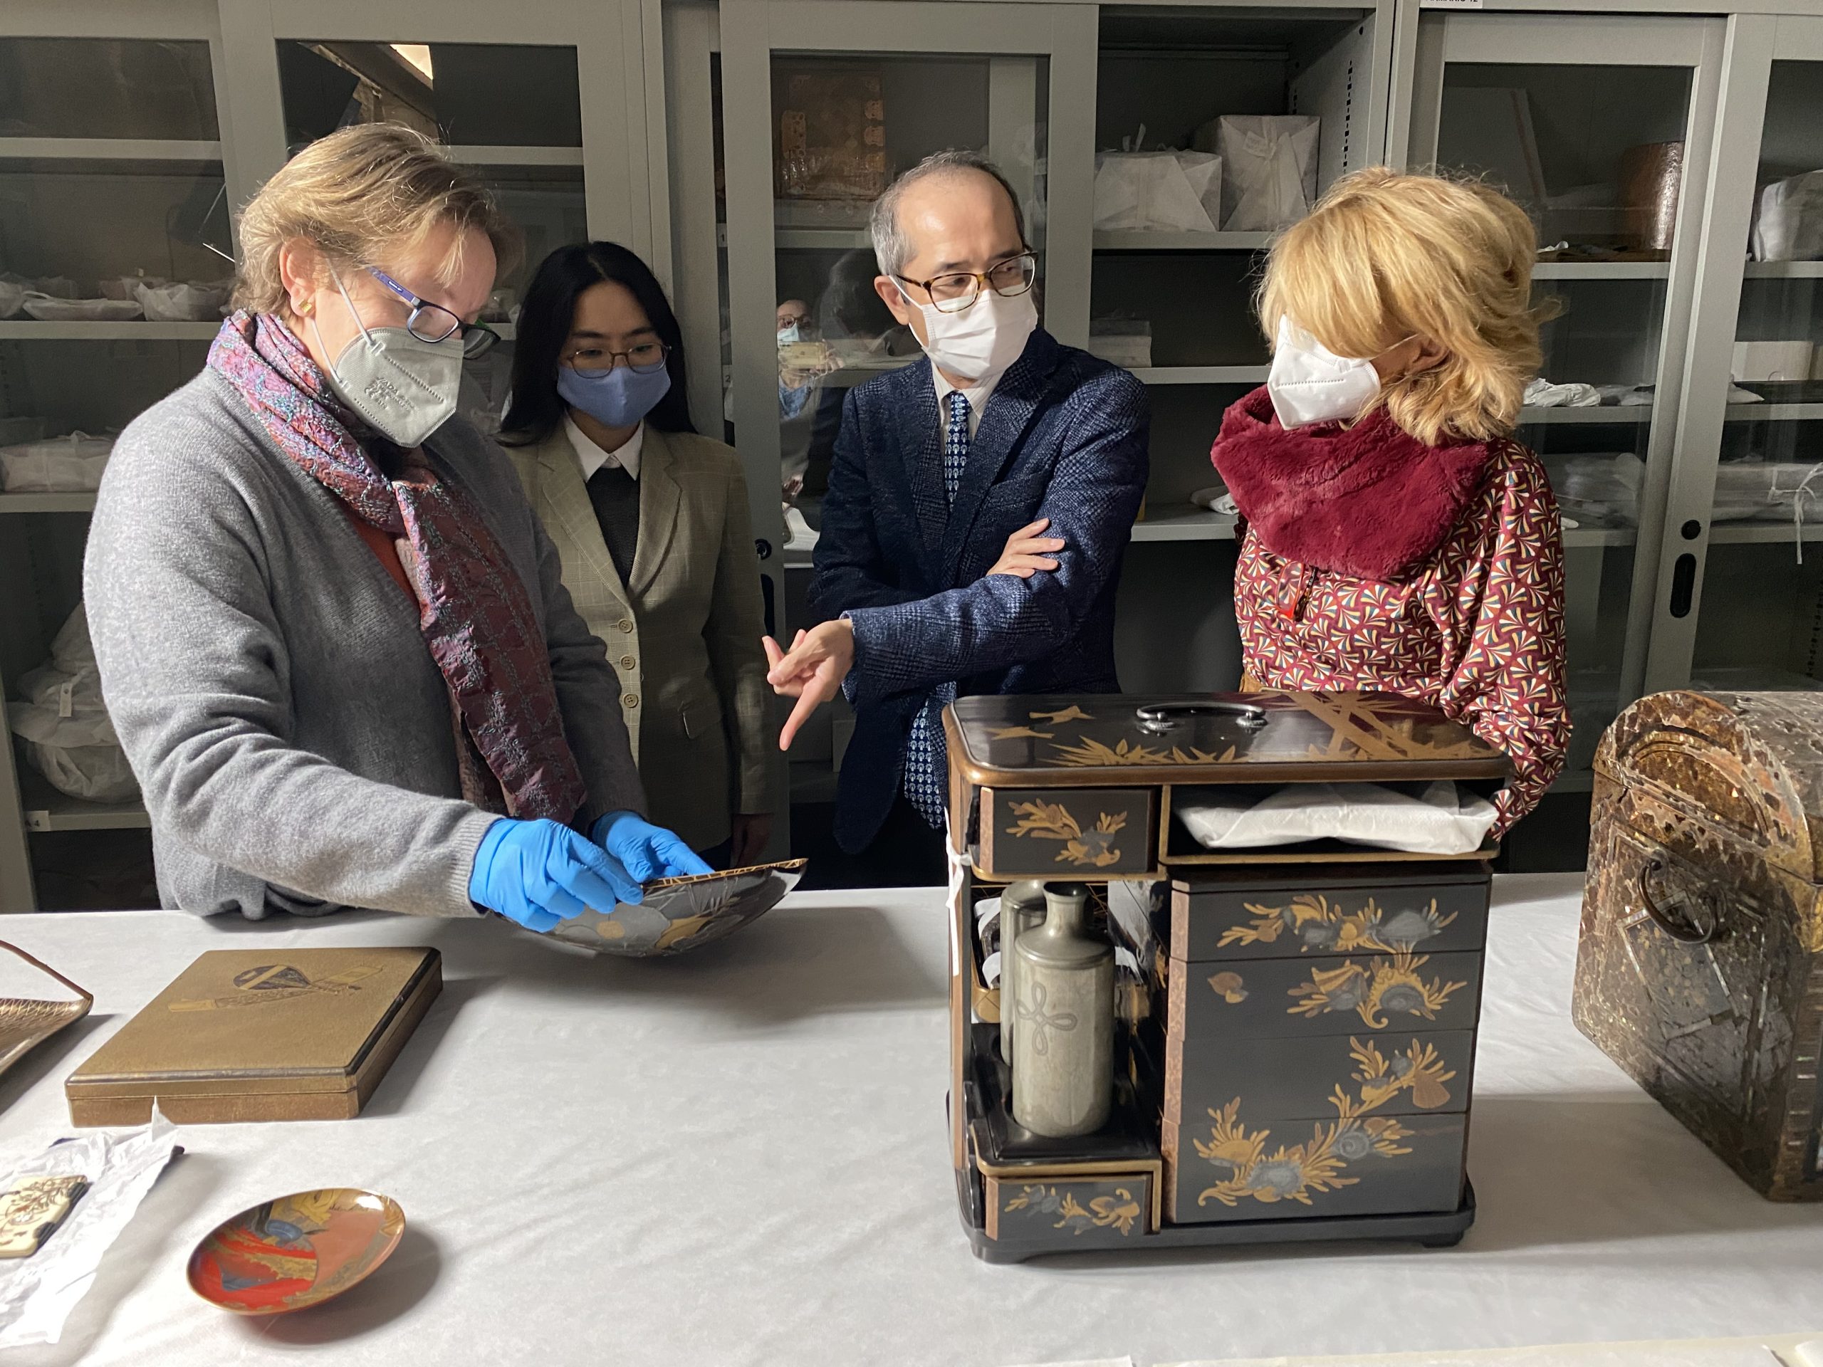
[[[1265,1205],[1278,1201],[1298,1201],[1314,1205],[1311,1196],[1353,1187],[1360,1177],[1344,1176],[1351,1163],[1375,1157],[1400,1157],[1411,1148],[1400,1139],[1409,1139],[1411,1130],[1391,1115],[1371,1115],[1400,1092],[1411,1092],[1416,1106],[1431,1110],[1449,1101],[1444,1086],[1455,1072],[1444,1068],[1437,1050],[1420,1041],[1402,1054],[1382,1054],[1373,1043],[1349,1039],[1349,1055],[1356,1063],[1353,1081],[1360,1084],[1360,1095],[1349,1095],[1336,1084],[1329,1105],[1336,1108],[1336,1119],[1329,1125],[1318,1123],[1311,1128],[1311,1139],[1302,1145],[1280,1145],[1267,1152],[1272,1137],[1271,1130],[1249,1130],[1240,1123],[1241,1099],[1234,1097],[1221,1110],[1210,1110],[1214,1121],[1209,1143],[1192,1141],[1196,1152],[1218,1168],[1227,1170],[1227,1177],[1205,1188],[1198,1205],[1220,1201],[1236,1207],[1252,1197]]]

